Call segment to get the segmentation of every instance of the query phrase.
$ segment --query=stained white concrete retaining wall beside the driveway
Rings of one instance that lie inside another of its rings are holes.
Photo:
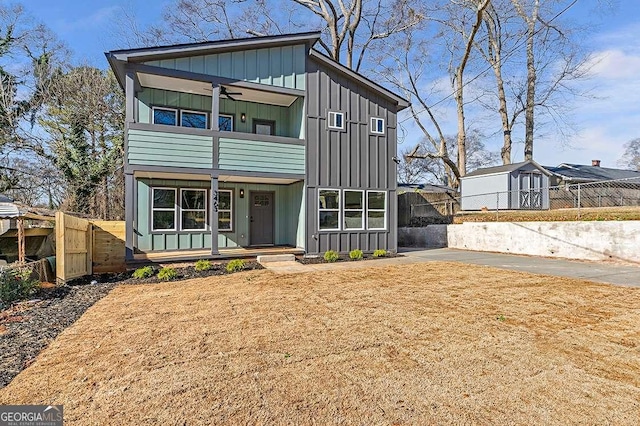
[[[449,248],[640,262],[640,221],[466,222],[447,225]]]

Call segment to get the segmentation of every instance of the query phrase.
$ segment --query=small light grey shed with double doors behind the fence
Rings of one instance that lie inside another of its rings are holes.
[[[548,209],[550,175],[533,160],[475,170],[460,179],[461,209]]]

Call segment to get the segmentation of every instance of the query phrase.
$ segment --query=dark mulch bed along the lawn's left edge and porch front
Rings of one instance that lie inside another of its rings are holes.
[[[177,276],[170,281],[228,274],[226,264],[211,266],[208,271],[196,271],[193,266],[176,267]],[[159,268],[154,269],[157,272]],[[245,270],[252,269],[263,267],[257,262],[246,262]],[[64,286],[41,289],[31,300],[0,311],[0,388],[33,363],[58,334],[116,285],[166,282],[155,275],[135,279],[131,274],[132,271],[82,277]]]

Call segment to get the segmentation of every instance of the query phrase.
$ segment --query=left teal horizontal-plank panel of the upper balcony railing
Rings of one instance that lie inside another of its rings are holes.
[[[210,169],[213,137],[129,130],[129,164]]]

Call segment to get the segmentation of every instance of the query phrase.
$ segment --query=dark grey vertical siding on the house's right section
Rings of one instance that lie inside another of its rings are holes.
[[[319,62],[307,60],[306,184],[308,254],[333,249],[397,250],[397,105]],[[328,130],[327,112],[345,114],[345,130]],[[370,118],[385,121],[385,134],[370,133]],[[384,231],[319,231],[318,189],[387,191]]]

